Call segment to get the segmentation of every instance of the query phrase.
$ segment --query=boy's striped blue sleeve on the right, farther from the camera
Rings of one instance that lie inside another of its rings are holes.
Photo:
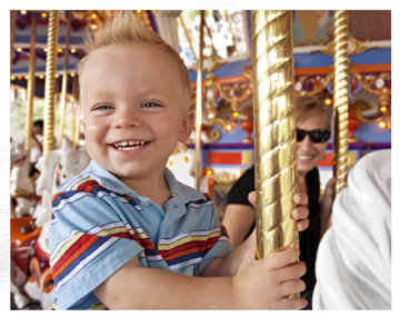
[[[210,224],[210,235],[207,240],[206,255],[199,264],[199,275],[216,257],[227,257],[232,250],[233,246],[229,244],[229,236],[227,229],[218,219],[216,208],[212,205],[212,215]]]

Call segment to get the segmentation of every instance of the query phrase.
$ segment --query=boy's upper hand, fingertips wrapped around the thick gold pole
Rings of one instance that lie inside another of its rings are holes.
[[[301,186],[304,182],[304,178],[300,175],[298,175],[298,185]],[[249,194],[249,201],[252,206],[256,207],[256,191],[251,191]],[[292,210],[291,217],[296,220],[298,220],[297,222],[297,229],[298,231],[303,231],[308,228],[310,221],[309,219],[307,219],[308,215],[309,215],[309,210],[306,207],[307,202],[308,202],[308,197],[304,192],[297,192],[293,195],[293,202],[298,205],[298,207],[296,207]]]

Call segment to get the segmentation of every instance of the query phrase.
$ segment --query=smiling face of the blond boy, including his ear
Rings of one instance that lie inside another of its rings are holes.
[[[194,120],[169,53],[148,44],[99,49],[84,65],[80,86],[90,157],[123,182],[162,177]]]

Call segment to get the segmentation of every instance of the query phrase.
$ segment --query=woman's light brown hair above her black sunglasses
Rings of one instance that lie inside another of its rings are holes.
[[[326,118],[326,125],[331,130],[331,112],[328,107],[317,97],[299,97],[296,99],[296,125],[301,125],[320,111]]]

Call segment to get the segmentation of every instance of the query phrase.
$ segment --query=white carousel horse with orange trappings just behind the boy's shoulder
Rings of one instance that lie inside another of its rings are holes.
[[[53,278],[50,268],[50,250],[49,250],[49,229],[51,221],[51,200],[57,190],[57,187],[64,182],[72,176],[84,170],[90,162],[90,157],[87,152],[86,145],[79,149],[73,149],[69,139],[64,138],[61,149],[52,150],[46,156],[39,158],[36,168],[40,171],[40,176],[36,181],[37,194],[41,196],[41,201],[38,204],[33,218],[36,219],[36,229],[29,234],[28,252],[26,251],[27,274],[24,283],[21,283],[20,274],[18,291],[14,293],[14,300],[20,308],[23,303],[29,303],[32,299],[40,301],[42,309],[50,309],[52,306],[52,288]],[[60,172],[58,172],[61,167]],[[58,176],[59,175],[59,176]],[[31,237],[32,236],[32,237]],[[11,241],[12,242],[12,241]],[[27,244],[22,244],[27,248]],[[11,247],[12,249],[12,247]],[[17,254],[19,247],[14,246]],[[18,270],[18,268],[13,269]],[[19,269],[23,271],[23,269]],[[16,288],[16,287],[14,287]],[[13,288],[13,290],[16,290]],[[18,304],[19,303],[19,304]]]

